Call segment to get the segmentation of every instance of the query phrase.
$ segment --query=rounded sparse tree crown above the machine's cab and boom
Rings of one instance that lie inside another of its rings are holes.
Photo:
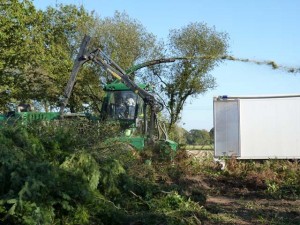
[[[94,45],[100,46],[123,69],[162,55],[162,43],[124,12],[116,11],[113,17],[99,20],[94,35]]]

